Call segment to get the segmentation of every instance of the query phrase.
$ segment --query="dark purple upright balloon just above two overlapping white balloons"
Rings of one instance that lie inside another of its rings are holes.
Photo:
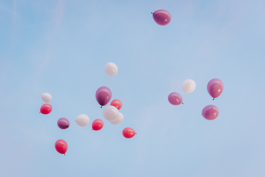
[[[111,90],[105,86],[98,88],[96,91],[96,100],[101,107],[107,105],[111,101]]]

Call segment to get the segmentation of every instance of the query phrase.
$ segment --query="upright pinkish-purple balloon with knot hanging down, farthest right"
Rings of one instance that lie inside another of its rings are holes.
[[[213,98],[219,97],[223,90],[224,84],[220,79],[211,79],[207,84],[207,91]]]

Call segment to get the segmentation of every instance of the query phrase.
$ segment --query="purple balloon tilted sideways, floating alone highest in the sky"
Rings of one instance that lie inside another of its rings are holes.
[[[171,20],[171,15],[169,11],[160,9],[160,10],[154,11],[153,19],[157,24],[164,26],[164,25],[169,24]]]

